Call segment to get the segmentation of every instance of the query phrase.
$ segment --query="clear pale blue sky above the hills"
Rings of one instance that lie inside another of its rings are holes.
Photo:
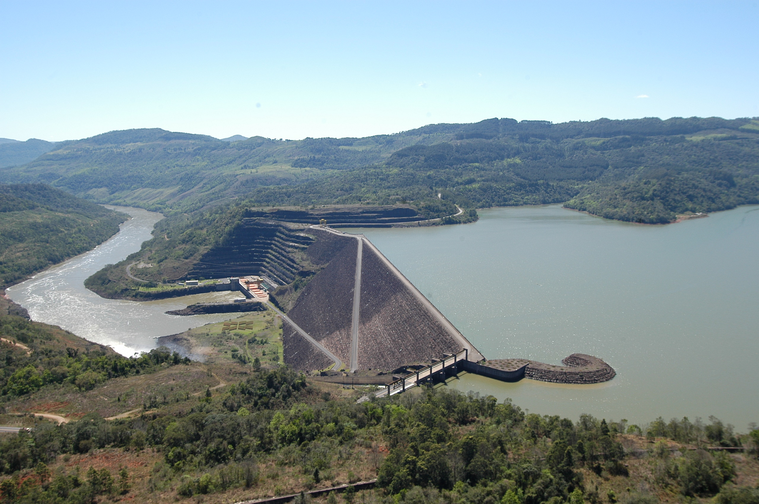
[[[759,116],[757,21],[757,2],[0,2],[0,137]]]

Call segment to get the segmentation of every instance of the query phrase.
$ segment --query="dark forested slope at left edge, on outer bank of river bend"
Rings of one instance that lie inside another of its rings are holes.
[[[0,289],[87,252],[126,219],[44,184],[0,184]]]

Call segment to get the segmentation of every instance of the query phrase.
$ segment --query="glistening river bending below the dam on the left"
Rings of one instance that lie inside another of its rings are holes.
[[[131,216],[111,239],[5,290],[9,298],[27,308],[32,320],[63,327],[87,340],[111,346],[122,355],[133,355],[155,348],[156,337],[229,318],[225,314],[179,317],[164,312],[195,302],[238,297],[231,292],[134,302],[103,299],[85,289],[84,280],[91,274],[140,250],[140,245],[151,238],[153,226],[163,218],[162,214],[142,208],[108,208]]]

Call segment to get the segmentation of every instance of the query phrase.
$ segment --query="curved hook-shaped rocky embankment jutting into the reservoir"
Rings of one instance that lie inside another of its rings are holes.
[[[602,383],[616,376],[616,371],[600,358],[573,353],[562,360],[563,366],[530,361],[524,377],[551,383]]]

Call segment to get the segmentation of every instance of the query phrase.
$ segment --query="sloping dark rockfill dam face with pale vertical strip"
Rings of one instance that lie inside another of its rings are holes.
[[[307,233],[315,238],[307,257],[323,269],[304,286],[287,316],[346,368],[389,371],[465,348],[473,358],[482,358],[365,236],[318,227]],[[288,365],[302,371],[329,365],[329,359],[287,323],[283,337]]]

